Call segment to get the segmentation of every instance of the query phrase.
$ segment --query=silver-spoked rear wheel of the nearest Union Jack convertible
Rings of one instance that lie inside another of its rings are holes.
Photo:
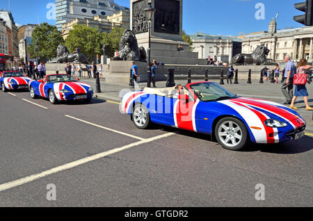
[[[147,129],[151,124],[150,113],[143,104],[136,104],[133,109],[132,119],[138,129]]]

